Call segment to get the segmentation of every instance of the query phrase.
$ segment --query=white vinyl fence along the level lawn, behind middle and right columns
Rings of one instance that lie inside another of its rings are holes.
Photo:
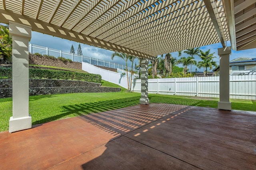
[[[148,93],[219,98],[220,77],[148,79]],[[141,80],[134,79],[132,90],[140,92]],[[230,76],[230,98],[256,100],[256,75]]]

